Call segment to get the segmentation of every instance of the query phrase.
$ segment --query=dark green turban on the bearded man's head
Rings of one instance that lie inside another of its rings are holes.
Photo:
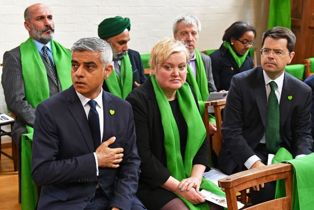
[[[122,33],[125,29],[131,29],[130,18],[120,16],[107,18],[98,25],[98,36],[101,39],[107,39]]]

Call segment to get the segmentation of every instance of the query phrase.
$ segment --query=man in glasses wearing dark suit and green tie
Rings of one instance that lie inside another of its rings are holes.
[[[295,35],[274,27],[263,33],[261,63],[231,80],[222,123],[222,171],[233,174],[267,165],[269,154],[290,152],[293,158],[312,153],[312,91],[285,72],[294,56]],[[256,191],[255,191],[256,190]],[[252,203],[274,199],[275,182],[253,187]]]

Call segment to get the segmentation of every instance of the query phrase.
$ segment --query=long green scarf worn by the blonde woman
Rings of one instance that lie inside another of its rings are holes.
[[[180,151],[180,135],[176,120],[172,114],[171,107],[164,91],[157,84],[155,76],[151,76],[152,84],[156,94],[158,108],[160,110],[161,122],[164,131],[164,147],[167,156],[167,168],[171,176],[181,181],[190,176],[192,161],[200,149],[206,137],[206,129],[198,112],[192,91],[187,83],[177,90],[177,98],[183,118],[187,124],[187,142],[184,153],[184,162]],[[197,130],[198,132],[195,132]],[[201,188],[217,195],[225,196],[225,193],[213,182],[203,178]],[[180,196],[179,196],[180,197]],[[207,203],[193,205],[180,197],[190,210],[209,209]]]

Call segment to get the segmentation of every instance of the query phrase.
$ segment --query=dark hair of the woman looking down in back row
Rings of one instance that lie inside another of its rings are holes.
[[[225,30],[222,40],[230,42],[231,37],[239,39],[246,31],[253,31],[254,37],[256,37],[256,30],[254,26],[246,21],[236,21],[227,30]]]

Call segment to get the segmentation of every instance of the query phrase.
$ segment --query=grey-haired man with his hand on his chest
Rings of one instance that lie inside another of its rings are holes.
[[[73,86],[36,109],[32,178],[43,185],[37,208],[143,209],[135,197],[140,159],[131,105],[102,89],[113,69],[110,45],[83,38],[71,51]]]

